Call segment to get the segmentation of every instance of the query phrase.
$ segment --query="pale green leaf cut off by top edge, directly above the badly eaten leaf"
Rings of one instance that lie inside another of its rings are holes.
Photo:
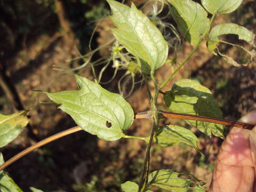
[[[201,0],[204,8],[212,14],[231,13],[235,11],[243,0]]]

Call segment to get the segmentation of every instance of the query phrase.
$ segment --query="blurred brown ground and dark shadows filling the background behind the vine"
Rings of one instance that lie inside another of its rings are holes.
[[[154,6],[159,7],[159,4],[156,2],[151,1],[147,6],[143,6],[146,0],[133,2],[142,8],[160,29],[166,23],[175,27],[171,18],[157,20],[159,18],[154,14]],[[131,4],[130,1],[125,3]],[[31,91],[76,90],[74,73],[93,79],[94,76],[99,77],[106,63],[95,65],[94,68],[86,65],[82,69],[63,69],[79,68],[87,61],[109,61],[110,65],[104,69],[101,78],[102,82],[108,81],[115,74],[115,68],[112,67],[114,64],[108,58],[113,56],[113,47],[116,44],[107,44],[113,39],[110,28],[114,26],[106,18],[109,15],[109,7],[105,1],[0,0],[0,10],[1,114],[14,113],[31,107],[38,101],[46,102],[36,105],[30,111],[31,118],[26,131],[1,149],[7,160],[36,141],[75,126],[74,121],[58,110],[45,95]],[[167,14],[166,12],[164,9],[163,15]],[[217,15],[214,25],[222,22],[237,23],[255,34],[256,2],[245,0],[234,13]],[[177,45],[177,39],[174,41],[175,35],[168,35],[170,31],[162,31],[171,51],[169,62],[157,71],[159,82],[170,75],[175,68],[175,60],[182,60],[192,50],[186,42]],[[227,35],[225,38],[232,43],[247,46],[244,42],[239,42],[237,37]],[[98,52],[92,52],[98,47]],[[220,50],[237,61],[243,62],[246,59],[241,51],[231,46],[220,45]],[[81,58],[81,55],[86,54],[86,57]],[[202,44],[166,90],[171,89],[173,82],[181,78],[197,79],[213,92],[224,118],[238,119],[256,107],[255,67],[255,62],[247,67],[229,66],[207,51],[206,45]],[[130,76],[124,77],[127,71]],[[140,74],[134,75],[130,69],[125,68],[113,81],[102,86],[109,91],[118,92],[117,84],[123,78],[122,90],[128,93],[133,84],[133,77],[139,81]],[[149,108],[145,90],[143,85],[135,86],[128,98],[135,112]],[[162,99],[159,99],[159,102],[161,101]],[[183,125],[186,126],[184,123]],[[139,119],[127,130],[127,134],[146,137],[149,129],[150,121]],[[199,146],[205,153],[205,158],[183,145],[171,149],[155,147],[151,158],[153,170],[168,168],[194,173],[209,184],[221,142],[217,138],[202,136]],[[12,164],[6,171],[24,191],[29,191],[30,186],[44,191],[120,191],[120,184],[126,180],[138,182],[144,150],[145,143],[141,141],[121,139],[107,142],[81,131],[34,151]]]

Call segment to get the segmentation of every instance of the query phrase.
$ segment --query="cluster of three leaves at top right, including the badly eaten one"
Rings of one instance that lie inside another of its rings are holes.
[[[213,15],[212,19],[214,19],[215,14],[217,13],[227,14],[235,11],[239,5],[241,5],[243,0],[201,0],[203,6],[192,0],[168,0],[168,2],[173,6],[171,7],[171,14],[178,25],[180,33],[191,45],[197,46],[198,42],[200,43],[205,35],[209,34],[209,39],[206,39],[208,49],[214,55],[221,55],[223,59],[233,66],[238,67],[241,65],[233,58],[220,53],[217,47],[218,43],[222,42],[241,47],[241,49],[250,55],[250,60],[247,63],[251,62],[253,58],[256,57],[255,51],[248,51],[242,46],[223,42],[219,39],[219,36],[221,35],[234,34],[238,35],[239,39],[246,41],[252,47],[256,47],[256,44],[254,43],[255,34],[245,27],[235,23],[221,23],[210,30],[212,20],[210,21],[207,18],[208,13],[205,11],[206,9],[210,12]]]

